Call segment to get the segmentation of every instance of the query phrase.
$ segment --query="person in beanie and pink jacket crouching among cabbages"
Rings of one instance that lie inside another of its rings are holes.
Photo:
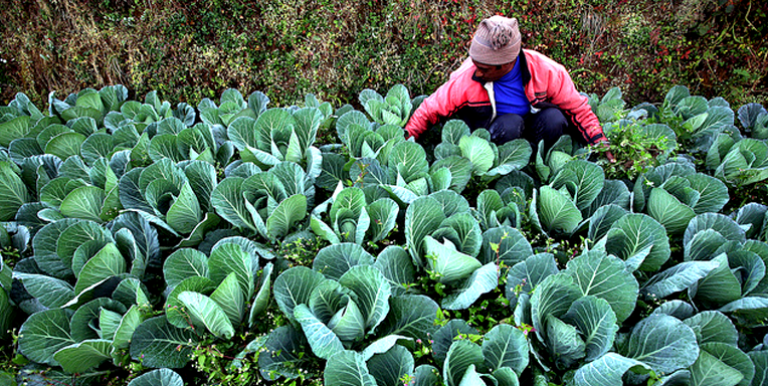
[[[587,97],[579,94],[561,64],[521,49],[517,19],[493,16],[480,22],[469,59],[414,112],[405,126],[418,138],[430,126],[458,118],[470,129],[487,128],[503,144],[525,138],[545,148],[563,134],[578,131],[584,142],[608,139]],[[606,153],[610,161],[613,155]]]

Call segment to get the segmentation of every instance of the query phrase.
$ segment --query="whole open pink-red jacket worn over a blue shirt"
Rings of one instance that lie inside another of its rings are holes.
[[[565,67],[532,50],[522,50],[518,56],[525,85],[525,95],[531,102],[531,112],[546,107],[558,107],[579,130],[589,144],[608,141],[597,116],[589,107],[587,97],[579,94]],[[474,77],[475,66],[467,59],[451,74],[447,83],[425,99],[413,113],[405,130],[418,138],[430,126],[448,118],[461,119],[474,130],[487,128],[496,118],[493,82],[483,83]]]

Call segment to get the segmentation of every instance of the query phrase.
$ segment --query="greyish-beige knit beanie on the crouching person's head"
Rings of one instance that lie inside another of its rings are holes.
[[[469,56],[492,66],[513,62],[520,54],[517,19],[491,16],[480,22],[469,46]]]

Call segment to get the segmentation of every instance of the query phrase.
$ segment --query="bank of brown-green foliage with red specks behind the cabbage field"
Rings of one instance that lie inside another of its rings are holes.
[[[196,104],[229,87],[285,105],[339,105],[403,83],[429,94],[484,17],[517,17],[524,47],[563,63],[581,91],[630,104],[672,85],[734,105],[768,101],[768,3],[745,0],[6,0],[0,102],[45,105],[86,87]]]

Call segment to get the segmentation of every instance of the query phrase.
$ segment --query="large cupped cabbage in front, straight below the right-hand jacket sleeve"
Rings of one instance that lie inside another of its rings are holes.
[[[517,323],[531,324],[536,331],[534,348],[547,351],[552,365],[568,368],[611,350],[617,323],[635,307],[639,284],[620,259],[605,252],[584,253],[564,271],[553,259],[534,255],[516,264],[507,286],[521,285],[521,291],[507,293],[515,301],[516,318],[521,318]],[[527,272],[535,272],[535,280],[523,280]]]

